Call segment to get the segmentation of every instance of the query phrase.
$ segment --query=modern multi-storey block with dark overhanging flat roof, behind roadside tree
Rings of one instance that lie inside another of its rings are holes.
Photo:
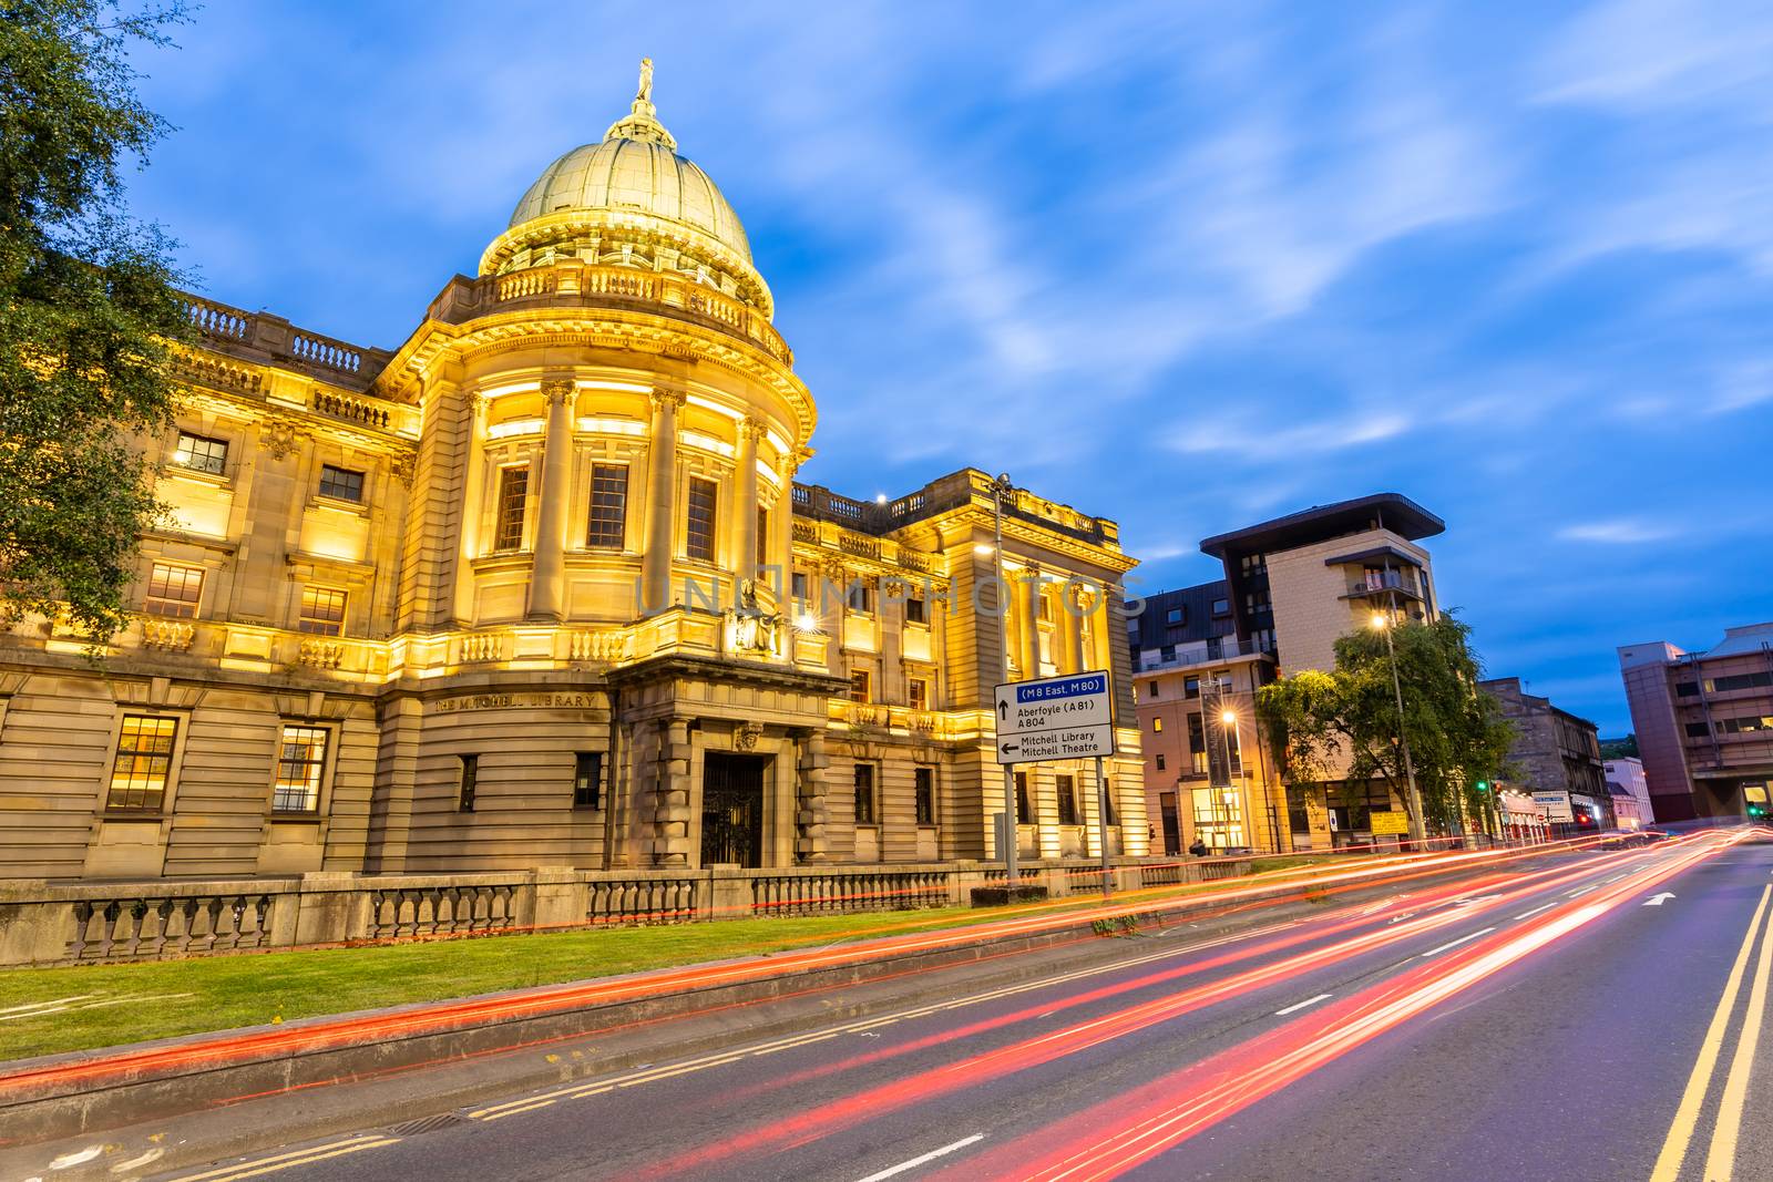
[[[1367,844],[1372,813],[1402,808],[1381,783],[1282,785],[1255,743],[1254,691],[1277,675],[1333,668],[1337,638],[1376,613],[1434,618],[1433,562],[1417,542],[1441,530],[1440,517],[1397,493],[1317,505],[1206,539],[1200,549],[1225,578],[1144,601],[1128,638],[1140,670],[1147,810],[1163,820],[1165,844],[1168,813],[1183,847],[1195,835],[1275,851]],[[1191,696],[1218,688],[1229,711]],[[1215,716],[1230,750],[1243,751],[1223,774],[1213,762],[1227,746],[1213,734]]]

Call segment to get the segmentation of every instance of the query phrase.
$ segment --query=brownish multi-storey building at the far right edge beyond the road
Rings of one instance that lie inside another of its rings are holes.
[[[1773,622],[1706,652],[1624,645],[1619,670],[1656,820],[1745,817],[1773,792]]]

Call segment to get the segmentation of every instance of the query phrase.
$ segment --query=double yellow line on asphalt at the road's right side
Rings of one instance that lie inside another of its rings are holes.
[[[1699,1129],[1699,1109],[1704,1106],[1718,1070],[1718,1056],[1723,1053],[1730,1015],[1736,1012],[1736,998],[1743,992],[1748,955],[1753,952],[1755,936],[1762,936],[1755,980],[1748,991],[1748,1012],[1743,1015],[1743,1026],[1736,1035],[1736,1051],[1730,1054],[1730,1069],[1723,1077],[1723,1097],[1718,1100],[1718,1118],[1711,1129],[1711,1148],[1706,1152],[1706,1171],[1700,1177],[1706,1182],[1730,1182],[1736,1170],[1736,1139],[1743,1129],[1743,1108],[1748,1100],[1748,1072],[1753,1067],[1755,1046],[1761,1042],[1761,1023],[1768,1008],[1768,980],[1773,976],[1773,936],[1762,930],[1769,897],[1773,897],[1773,886],[1762,886],[1761,904],[1748,921],[1743,946],[1736,952],[1736,964],[1730,966],[1723,996],[1718,998],[1711,1026],[1706,1028],[1706,1040],[1699,1046],[1699,1060],[1693,1063],[1693,1074],[1686,1079],[1681,1106],[1674,1113],[1674,1124],[1668,1125],[1668,1138],[1663,1141],[1661,1154],[1656,1155],[1651,1182],[1675,1182],[1681,1177],[1681,1166],[1686,1163],[1688,1148]]]

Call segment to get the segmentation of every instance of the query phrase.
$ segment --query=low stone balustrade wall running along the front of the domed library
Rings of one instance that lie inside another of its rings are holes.
[[[1250,874],[1246,859],[1117,859],[1117,891]],[[1096,861],[1021,867],[1048,897],[1103,888]],[[996,863],[571,870],[48,884],[0,883],[0,968],[119,964],[328,945],[966,906]]]

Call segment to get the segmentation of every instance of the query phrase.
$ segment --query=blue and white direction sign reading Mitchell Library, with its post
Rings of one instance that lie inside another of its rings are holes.
[[[1005,778],[1016,764],[1055,758],[1096,760],[1096,819],[1101,829],[1103,893],[1108,875],[1108,778],[1113,755],[1113,693],[1108,672],[1014,680],[996,688],[996,757]]]

